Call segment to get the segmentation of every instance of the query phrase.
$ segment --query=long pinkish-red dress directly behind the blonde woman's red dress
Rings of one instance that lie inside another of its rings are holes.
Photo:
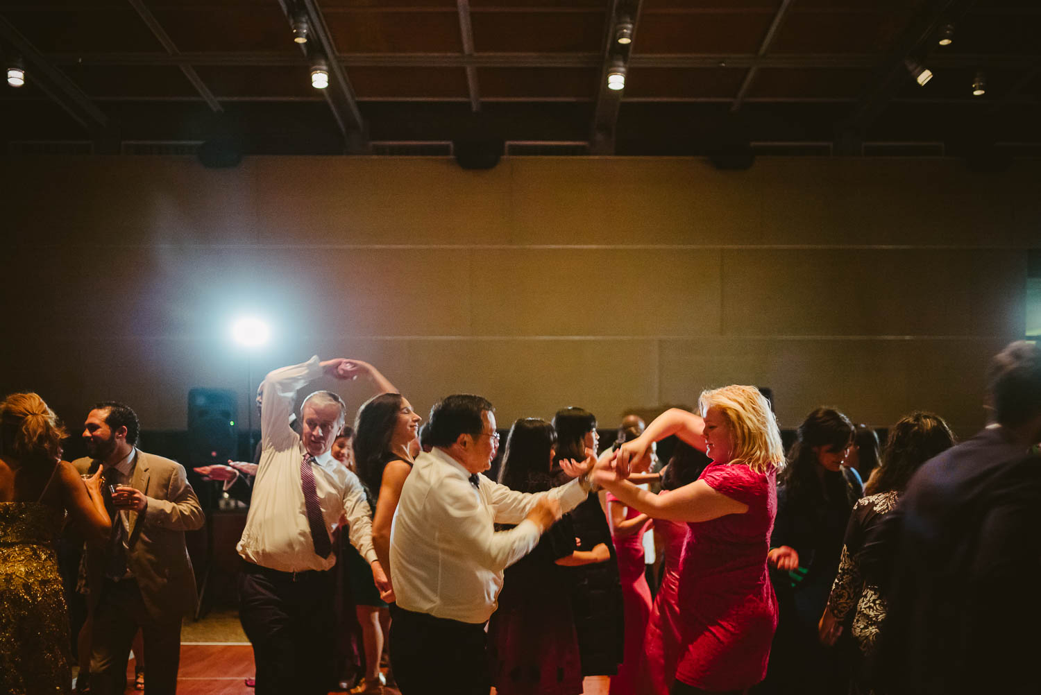
[[[662,490],[661,494],[668,494]],[[655,519],[655,529],[664,541],[665,562],[661,587],[654,598],[644,638],[644,679],[655,695],[668,695],[680,661],[682,619],[680,617],[680,556],[687,541],[687,524]]]

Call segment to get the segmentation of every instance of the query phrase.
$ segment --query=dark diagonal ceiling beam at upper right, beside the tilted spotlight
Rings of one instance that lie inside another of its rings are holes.
[[[835,150],[838,154],[859,154],[860,143],[875,119],[900,88],[912,79],[909,61],[924,63],[937,45],[936,33],[942,24],[957,22],[974,0],[928,0],[911,18],[896,38],[874,81],[861,94],[857,106],[836,127]],[[930,66],[937,63],[930,58]]]

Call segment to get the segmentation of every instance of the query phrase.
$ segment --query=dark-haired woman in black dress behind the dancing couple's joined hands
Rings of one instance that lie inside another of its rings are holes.
[[[590,453],[596,454],[600,442],[596,417],[588,410],[573,407],[557,411],[553,429],[557,432],[554,464],[562,460],[583,461]],[[554,477],[557,485],[569,480],[556,465]],[[625,655],[625,609],[611,529],[595,492],[590,492],[567,516],[581,541],[580,550],[590,550],[603,543],[611,552],[611,562],[578,567],[570,574],[582,674],[613,676]]]

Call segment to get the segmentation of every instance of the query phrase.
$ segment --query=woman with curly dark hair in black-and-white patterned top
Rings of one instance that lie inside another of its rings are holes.
[[[855,693],[866,694],[871,690],[870,660],[886,617],[886,599],[878,586],[864,581],[857,554],[882,517],[896,507],[921,464],[954,444],[955,435],[939,415],[914,412],[900,418],[889,431],[882,466],[865,490],[867,496],[857,503],[849,515],[838,575],[820,618],[818,635],[824,644],[835,644],[843,623],[853,616],[850,633],[863,658],[854,671]]]

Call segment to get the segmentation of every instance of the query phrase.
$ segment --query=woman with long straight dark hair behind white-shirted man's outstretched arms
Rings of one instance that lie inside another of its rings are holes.
[[[549,490],[556,444],[557,434],[545,420],[515,421],[506,439],[499,482],[518,492]],[[499,609],[488,622],[491,681],[500,695],[582,692],[578,635],[562,566],[610,559],[604,543],[591,550],[576,549],[575,527],[565,515],[542,534],[534,550],[506,569]]]

